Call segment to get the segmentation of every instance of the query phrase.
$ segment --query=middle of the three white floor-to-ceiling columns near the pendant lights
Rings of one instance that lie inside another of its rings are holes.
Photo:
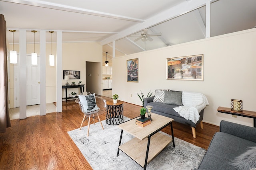
[[[46,32],[40,31],[40,116],[46,115]]]

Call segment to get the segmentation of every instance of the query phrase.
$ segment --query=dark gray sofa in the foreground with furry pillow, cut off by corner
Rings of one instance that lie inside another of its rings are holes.
[[[256,169],[256,128],[222,120],[195,170],[234,169]]]

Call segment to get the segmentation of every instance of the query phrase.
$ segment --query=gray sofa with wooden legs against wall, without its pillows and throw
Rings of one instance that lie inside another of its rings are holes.
[[[184,117],[180,116],[173,108],[178,107],[177,105],[173,104],[164,104],[160,102],[153,102],[154,96],[151,96],[149,98],[144,98],[144,107],[146,108],[147,105],[153,106],[151,112],[156,113],[159,115],[163,115],[166,117],[170,117],[174,119],[174,121],[183,123],[185,125],[189,125],[192,129],[192,135],[194,138],[196,138],[196,126],[200,124],[200,127],[204,129],[202,120],[204,118],[204,109],[200,111],[200,119],[197,123],[193,123],[191,120],[186,120]]]

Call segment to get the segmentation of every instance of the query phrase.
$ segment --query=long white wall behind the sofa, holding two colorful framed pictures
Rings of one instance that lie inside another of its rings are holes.
[[[166,80],[166,59],[204,55],[204,80]],[[126,60],[138,58],[138,83],[126,81]],[[243,100],[243,109],[256,111],[256,29],[197,40],[113,59],[113,94],[120,100],[141,105],[137,93],[170,88],[200,92],[208,98],[204,122],[221,120],[253,126],[253,119],[218,113],[230,107],[230,99]],[[154,94],[154,93],[153,93]],[[131,97],[132,95],[132,97]]]

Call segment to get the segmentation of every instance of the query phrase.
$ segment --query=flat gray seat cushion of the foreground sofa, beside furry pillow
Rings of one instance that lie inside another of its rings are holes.
[[[230,164],[236,156],[242,154],[248,147],[256,143],[223,132],[215,133],[208,150],[198,167],[200,170],[234,170]]]

